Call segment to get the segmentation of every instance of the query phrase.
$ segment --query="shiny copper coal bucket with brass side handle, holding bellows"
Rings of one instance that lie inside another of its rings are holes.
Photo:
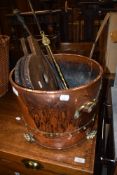
[[[92,130],[97,115],[103,70],[94,60],[75,54],[55,58],[69,84],[67,90],[42,91],[10,82],[20,102],[28,133],[47,148],[76,145]]]

